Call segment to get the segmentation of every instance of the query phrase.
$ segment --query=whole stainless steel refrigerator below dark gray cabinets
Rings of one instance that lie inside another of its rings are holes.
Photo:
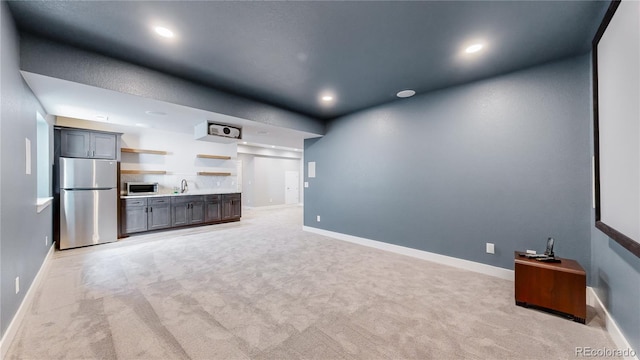
[[[116,241],[117,162],[60,158],[60,249]]]

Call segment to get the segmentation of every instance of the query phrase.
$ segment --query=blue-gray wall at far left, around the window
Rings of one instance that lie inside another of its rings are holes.
[[[20,76],[19,36],[4,1],[0,13],[0,334],[4,337],[51,246],[44,239],[52,239],[52,213],[51,207],[36,212],[36,111],[46,112]],[[34,156],[31,175],[25,171],[25,138],[31,140]]]

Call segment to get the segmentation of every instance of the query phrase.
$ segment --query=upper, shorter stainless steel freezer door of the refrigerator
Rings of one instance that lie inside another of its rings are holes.
[[[115,160],[60,158],[60,188],[115,188],[116,166]]]

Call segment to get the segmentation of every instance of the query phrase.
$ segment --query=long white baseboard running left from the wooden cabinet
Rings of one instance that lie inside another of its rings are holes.
[[[318,229],[311,226],[303,226],[302,230],[319,234],[319,235],[328,236],[338,240],[348,241],[351,243],[360,244],[360,245],[364,245],[364,246],[368,246],[368,247],[372,247],[380,250],[386,250],[396,254],[411,256],[411,257],[422,259],[422,260],[428,260],[438,264],[449,265],[456,268],[465,269],[465,270],[469,270],[469,271],[473,271],[473,272],[477,272],[485,275],[491,275],[491,276],[495,276],[505,280],[513,281],[514,279],[513,270],[504,269],[497,266],[482,264],[475,261],[458,259],[451,256],[440,255],[440,254],[436,254],[428,251],[412,249],[412,248],[408,248],[400,245],[394,245],[394,244],[389,244],[381,241],[370,240],[370,239],[361,238],[357,236],[337,233],[329,230]]]

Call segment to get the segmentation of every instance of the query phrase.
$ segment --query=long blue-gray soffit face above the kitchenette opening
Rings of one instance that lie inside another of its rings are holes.
[[[264,124],[324,134],[324,122],[94,52],[21,34],[21,69]]]

